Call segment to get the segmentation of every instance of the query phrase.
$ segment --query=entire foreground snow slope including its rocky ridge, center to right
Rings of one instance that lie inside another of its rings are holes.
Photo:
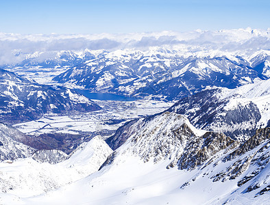
[[[159,128],[165,122],[160,120],[169,122],[164,135]],[[99,172],[45,195],[30,198],[8,195],[2,203],[269,203],[269,128],[260,129],[248,141],[239,143],[220,133],[199,131],[175,113],[164,113],[151,122],[149,133],[141,128],[132,135],[108,157]],[[175,126],[170,122],[182,128],[175,137],[171,135]],[[177,141],[181,140],[186,143],[177,147]],[[166,154],[158,152],[160,145]],[[149,152],[141,152],[144,148]],[[156,148],[155,152],[151,148]],[[168,157],[171,151],[178,156]],[[173,159],[177,159],[175,166],[171,163]]]

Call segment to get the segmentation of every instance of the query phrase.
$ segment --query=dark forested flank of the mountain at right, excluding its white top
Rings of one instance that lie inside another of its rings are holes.
[[[249,102],[225,109],[231,98],[219,98],[220,92],[221,89],[204,90],[183,98],[168,111],[185,115],[197,128],[222,132],[233,139],[254,135],[261,118],[256,104]],[[241,126],[242,124],[249,126]]]

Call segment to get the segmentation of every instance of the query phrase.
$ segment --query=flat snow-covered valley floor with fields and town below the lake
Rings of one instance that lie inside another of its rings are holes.
[[[14,128],[27,135],[40,135],[42,133],[69,133],[78,135],[82,132],[116,131],[117,128],[127,121],[160,113],[173,105],[173,102],[157,100],[127,102],[112,100],[93,101],[103,109],[82,115],[45,115],[38,120],[14,124]]]

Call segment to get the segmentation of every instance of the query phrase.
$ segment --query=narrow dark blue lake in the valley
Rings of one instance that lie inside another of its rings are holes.
[[[138,100],[138,98],[119,96],[116,94],[110,93],[92,93],[88,90],[76,90],[79,94],[86,96],[86,98],[93,100],[117,100],[117,101],[134,101]]]

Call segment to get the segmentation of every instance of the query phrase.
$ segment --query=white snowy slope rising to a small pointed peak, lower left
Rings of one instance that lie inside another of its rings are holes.
[[[0,191],[5,196],[15,194],[27,197],[58,189],[96,172],[111,152],[103,139],[95,137],[60,163],[38,163],[31,157],[0,163]],[[56,151],[47,152],[47,159],[52,159],[53,154],[57,154]],[[44,156],[45,153],[39,159],[45,159]],[[35,160],[38,158],[36,154],[32,157]]]

